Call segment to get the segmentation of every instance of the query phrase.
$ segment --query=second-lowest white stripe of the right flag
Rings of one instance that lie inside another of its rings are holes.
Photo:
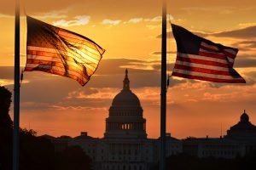
[[[213,66],[213,65],[202,65],[202,64],[197,64],[197,63],[190,63],[186,61],[176,61],[177,65],[185,65],[189,67],[196,67],[196,68],[202,68],[202,69],[210,69],[210,70],[215,70],[215,71],[230,71],[228,68],[225,67],[220,67],[220,66]]]

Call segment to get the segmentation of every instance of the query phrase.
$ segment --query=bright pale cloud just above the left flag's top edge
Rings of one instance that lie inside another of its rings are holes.
[[[79,15],[74,17],[75,20],[57,20],[53,22],[54,26],[84,26],[90,22],[90,16]]]

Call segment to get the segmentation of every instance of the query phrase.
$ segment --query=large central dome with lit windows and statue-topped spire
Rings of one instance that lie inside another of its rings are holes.
[[[146,119],[136,94],[130,89],[128,71],[125,70],[123,89],[113,98],[106,119],[105,138],[147,138]]]

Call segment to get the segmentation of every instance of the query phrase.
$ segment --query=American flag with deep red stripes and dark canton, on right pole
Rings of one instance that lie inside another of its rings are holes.
[[[173,24],[172,32],[177,42],[172,76],[208,82],[245,83],[233,69],[237,48],[211,42]]]

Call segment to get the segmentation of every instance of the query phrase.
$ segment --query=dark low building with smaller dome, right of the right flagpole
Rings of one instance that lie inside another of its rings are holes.
[[[224,138],[188,138],[183,140],[183,152],[191,156],[233,159],[256,150],[256,127],[244,111]]]

